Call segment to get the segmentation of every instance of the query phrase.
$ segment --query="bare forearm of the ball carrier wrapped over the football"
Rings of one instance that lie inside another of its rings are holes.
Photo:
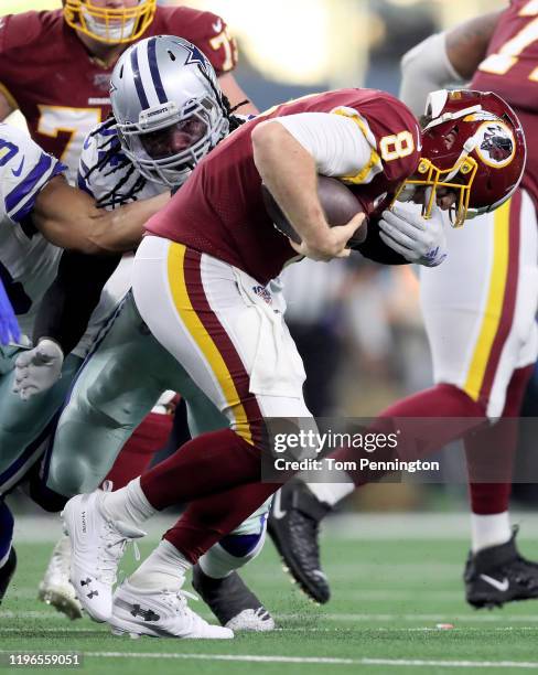
[[[319,250],[330,247],[313,157],[278,122],[266,122],[254,130],[252,149],[263,183],[301,239]]]

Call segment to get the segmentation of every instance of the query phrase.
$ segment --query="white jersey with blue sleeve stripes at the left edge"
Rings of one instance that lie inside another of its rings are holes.
[[[26,335],[62,253],[26,216],[40,190],[65,169],[25,131],[0,124],[0,278]]]

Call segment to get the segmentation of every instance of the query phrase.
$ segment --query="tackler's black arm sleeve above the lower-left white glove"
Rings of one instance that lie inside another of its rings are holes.
[[[101,290],[121,255],[89,256],[65,250],[58,274],[46,291],[35,318],[34,344],[52,338],[68,354],[84,335]]]

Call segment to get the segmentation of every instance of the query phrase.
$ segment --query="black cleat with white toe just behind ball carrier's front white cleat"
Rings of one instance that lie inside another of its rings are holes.
[[[272,631],[275,621],[236,571],[223,579],[193,568],[193,588],[222,625],[233,631]]]

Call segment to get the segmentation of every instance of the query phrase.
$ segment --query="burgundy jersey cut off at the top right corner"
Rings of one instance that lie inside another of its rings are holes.
[[[515,109],[527,138],[527,168],[521,184],[538,205],[538,2],[513,0],[501,15],[487,56],[471,84],[495,92]]]

